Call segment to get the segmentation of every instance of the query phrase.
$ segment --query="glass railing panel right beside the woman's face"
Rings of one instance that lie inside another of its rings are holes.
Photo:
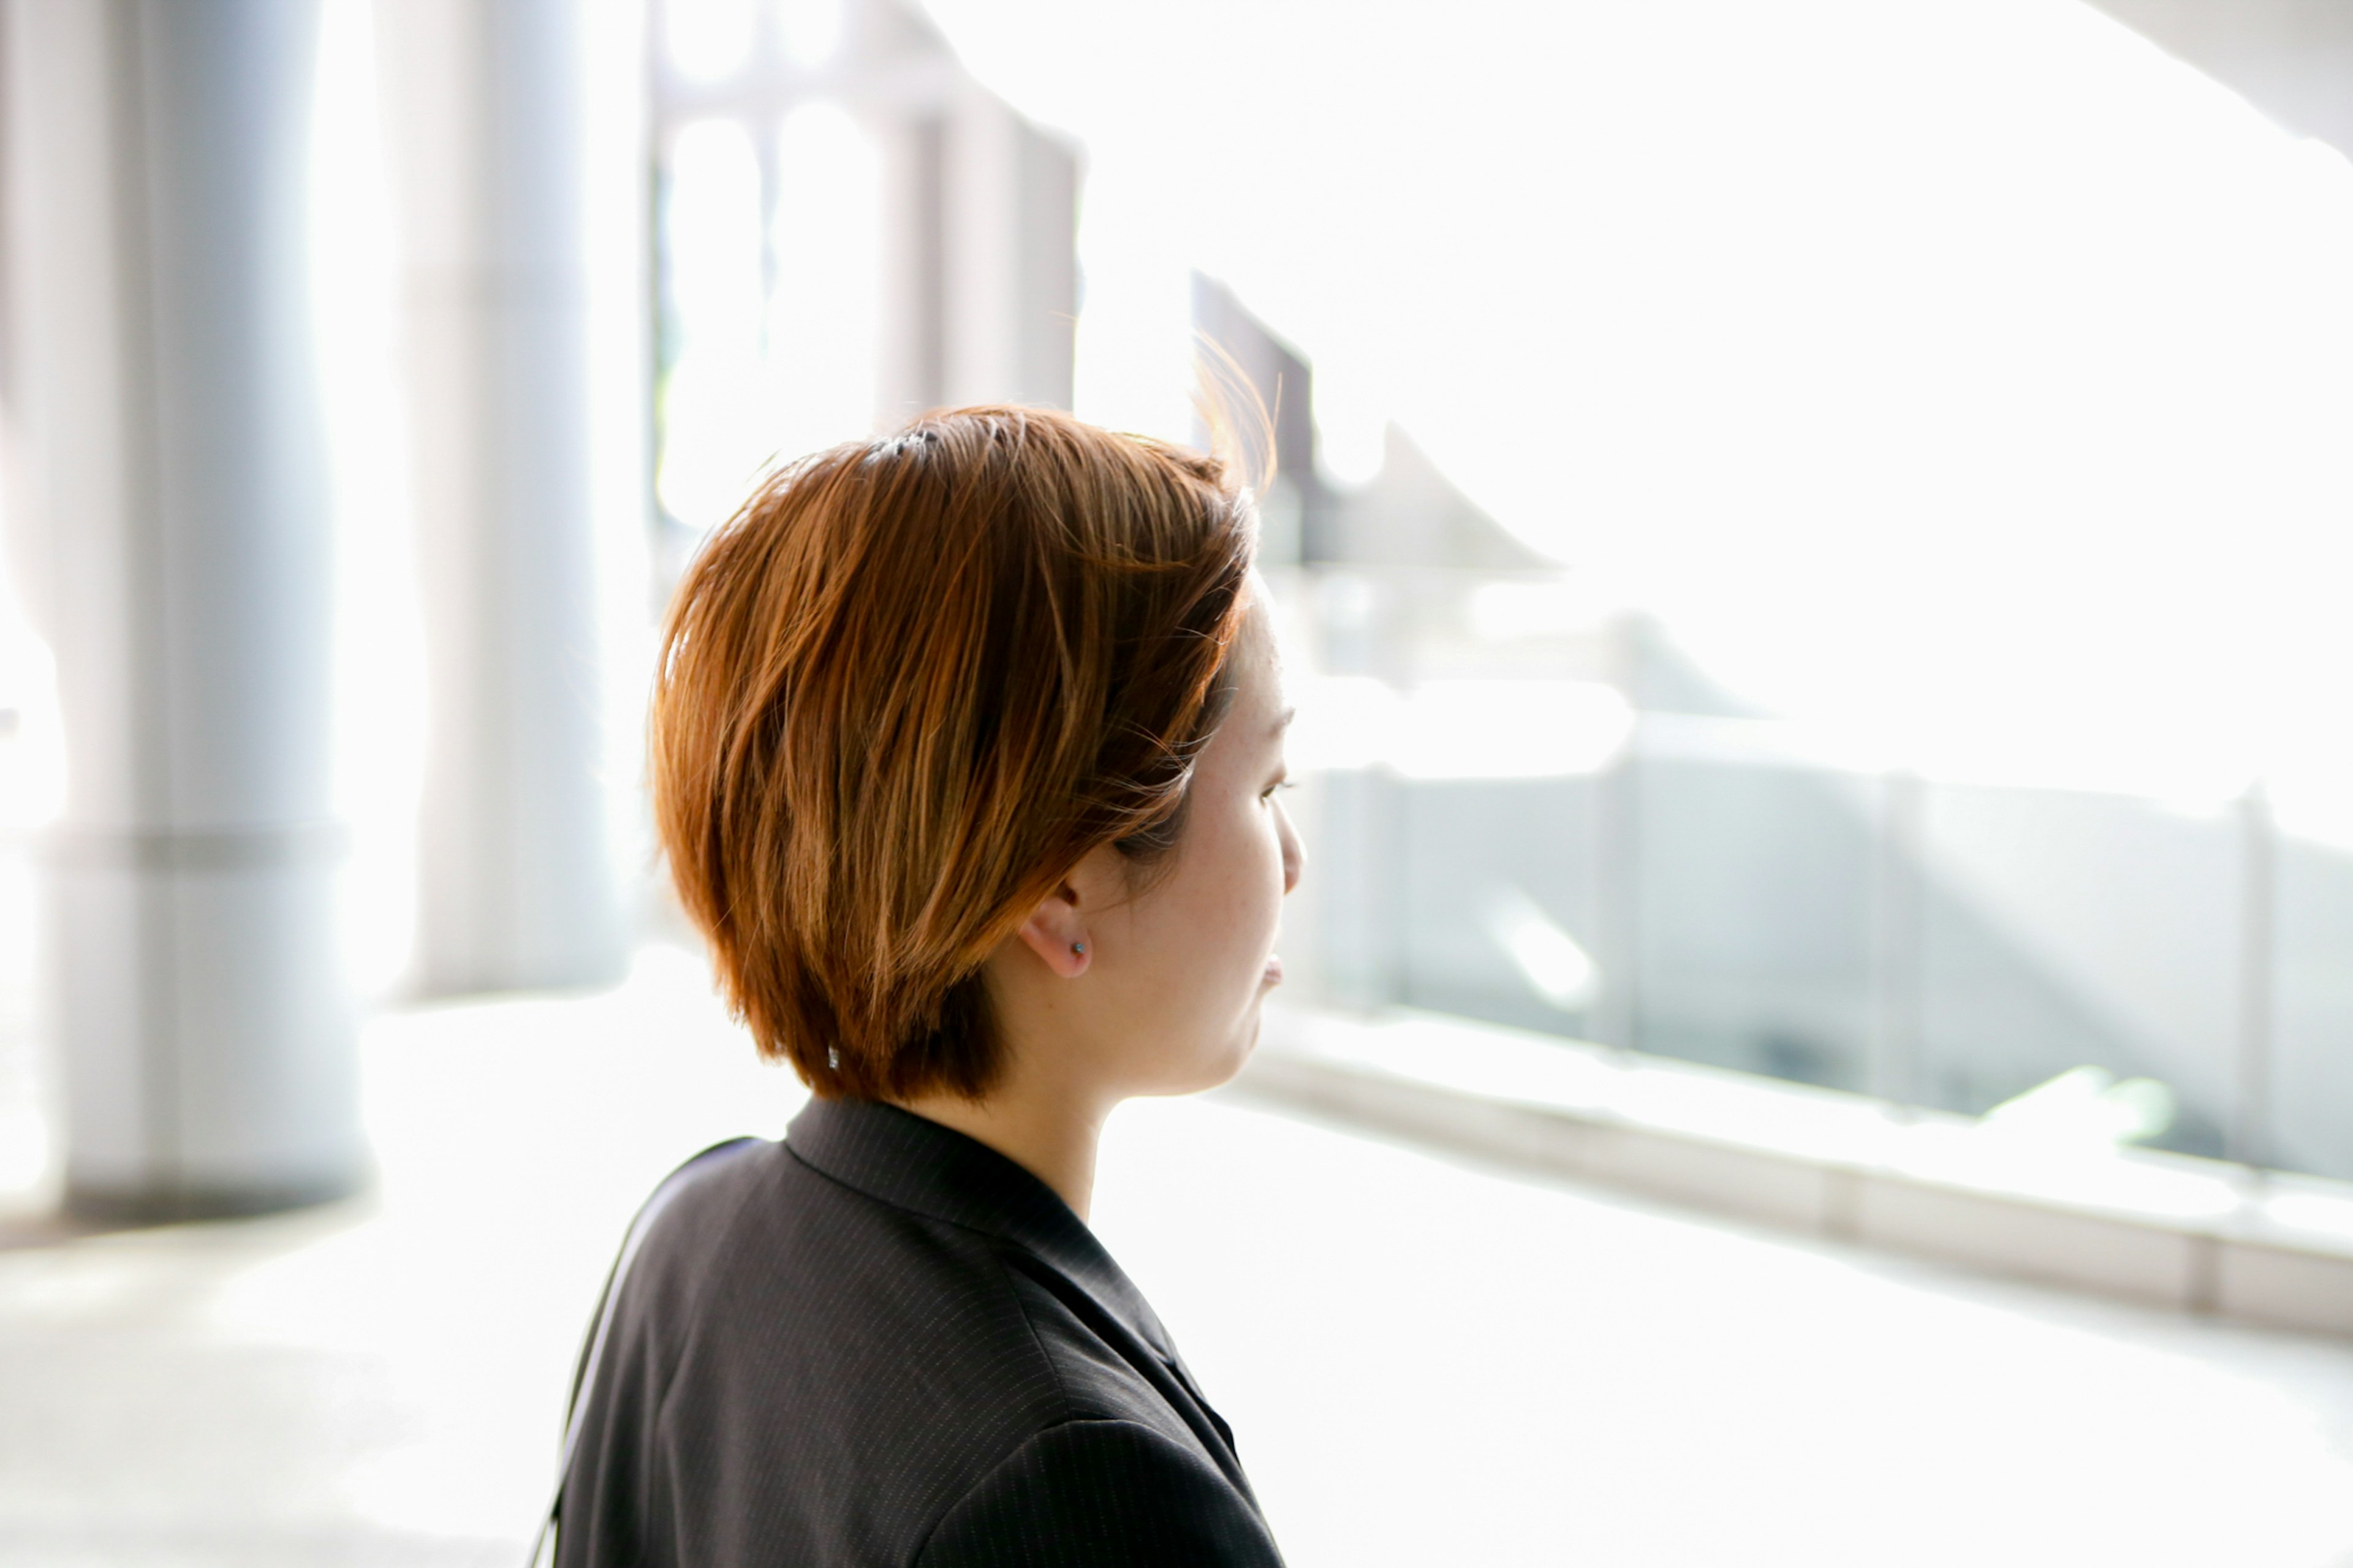
[[[1631,711],[1565,577],[1282,574],[1320,998],[1586,1036],[1598,777]],[[1306,989],[1294,991],[1306,1001]]]

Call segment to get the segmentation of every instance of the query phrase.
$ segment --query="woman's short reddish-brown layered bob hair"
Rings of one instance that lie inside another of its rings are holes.
[[[819,1095],[981,1097],[981,965],[1092,850],[1148,876],[1221,716],[1231,469],[969,407],[802,459],[678,586],[654,822],[720,989]]]

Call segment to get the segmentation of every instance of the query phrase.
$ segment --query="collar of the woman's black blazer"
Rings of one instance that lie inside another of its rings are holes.
[[[1181,1366],[1144,1293],[1087,1222],[988,1144],[873,1099],[809,1099],[784,1144],[842,1187],[1033,1253],[1162,1361]]]

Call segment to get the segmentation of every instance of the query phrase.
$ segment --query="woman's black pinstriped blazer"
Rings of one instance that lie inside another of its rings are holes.
[[[656,1203],[576,1394],[560,1568],[1280,1563],[1160,1318],[1002,1154],[814,1099]]]

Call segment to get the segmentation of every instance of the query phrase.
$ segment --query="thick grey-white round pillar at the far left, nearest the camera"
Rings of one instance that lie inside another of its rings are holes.
[[[78,1210],[362,1170],[311,344],[318,0],[9,0],[9,433],[68,793],[47,1015]]]

